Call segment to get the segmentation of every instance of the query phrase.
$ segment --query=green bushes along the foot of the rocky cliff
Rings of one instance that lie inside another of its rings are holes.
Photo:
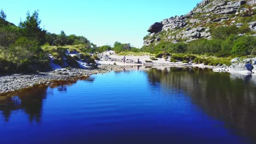
[[[160,41],[157,45],[143,46],[142,51],[150,53],[193,53],[199,55],[212,55],[228,57],[231,55],[256,55],[254,49],[256,37],[252,35],[237,34],[239,29],[235,26],[220,26],[213,30],[212,39],[198,39],[191,43],[171,43]]]

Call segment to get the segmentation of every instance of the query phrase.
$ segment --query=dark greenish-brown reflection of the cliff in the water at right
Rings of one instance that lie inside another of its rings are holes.
[[[158,83],[166,92],[182,91],[208,115],[256,139],[255,77],[181,68],[150,69],[148,76],[152,85]]]

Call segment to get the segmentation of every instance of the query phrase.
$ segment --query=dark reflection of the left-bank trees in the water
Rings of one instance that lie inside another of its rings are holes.
[[[81,79],[55,81],[50,86],[36,86],[0,97],[0,114],[4,117],[4,121],[8,122],[12,112],[22,110],[28,115],[30,122],[40,122],[44,100],[47,96],[54,95],[52,88],[57,88],[61,92],[67,92],[67,86],[73,85],[78,80]],[[94,81],[94,79],[88,79],[87,77],[84,77],[82,80]]]

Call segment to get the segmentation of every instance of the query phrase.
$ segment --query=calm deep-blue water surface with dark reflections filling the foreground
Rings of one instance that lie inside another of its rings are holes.
[[[0,143],[256,143],[256,82],[113,71],[0,97]]]

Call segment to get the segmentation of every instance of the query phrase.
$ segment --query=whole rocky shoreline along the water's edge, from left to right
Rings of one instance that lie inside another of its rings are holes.
[[[123,63],[122,63],[123,64]],[[188,64],[188,63],[143,63],[144,66],[157,66],[162,65],[164,67],[182,67],[182,68],[207,68],[212,69],[214,72],[224,72],[224,73],[236,73],[242,75],[249,75],[249,71],[246,70],[245,62],[234,63],[230,66],[218,65],[210,66],[204,64]],[[36,85],[49,85],[53,81],[61,80],[72,80],[79,77],[87,77],[93,74],[104,74],[111,70],[124,70],[133,67],[140,67],[141,65],[128,64],[128,65],[113,65],[113,64],[100,64],[96,69],[57,69],[47,73],[39,74],[13,74],[13,75],[0,75],[0,95],[6,95],[10,92],[20,91],[24,88],[30,88]],[[253,75],[256,71],[253,70]]]

